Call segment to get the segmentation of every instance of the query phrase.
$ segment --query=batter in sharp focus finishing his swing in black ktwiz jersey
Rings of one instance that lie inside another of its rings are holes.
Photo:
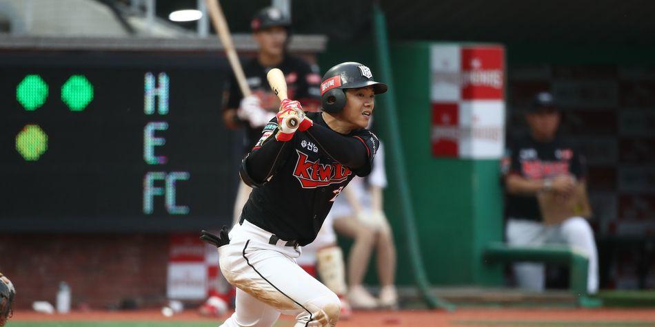
[[[367,176],[379,140],[365,129],[374,96],[387,85],[361,63],[341,63],[323,76],[323,112],[284,100],[241,164],[253,191],[239,224],[201,238],[219,247],[221,271],[236,286],[236,312],[222,326],[272,326],[281,313],[299,326],[335,326],[339,297],[296,258],[321,229],[332,203],[354,176]],[[295,127],[288,120],[299,121]]]

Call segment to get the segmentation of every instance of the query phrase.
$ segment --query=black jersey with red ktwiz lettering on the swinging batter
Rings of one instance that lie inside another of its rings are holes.
[[[320,112],[308,112],[307,116],[314,125],[328,127]],[[276,120],[271,120],[253,151],[273,141],[276,128]],[[363,167],[353,170],[341,165],[307,131],[296,131],[280,152],[281,162],[268,182],[250,193],[242,218],[282,240],[296,240],[300,245],[314,241],[343,188],[354,176],[370,173],[379,147],[378,138],[368,129],[356,129],[344,136],[356,138],[363,145],[357,148],[366,151],[367,161]]]

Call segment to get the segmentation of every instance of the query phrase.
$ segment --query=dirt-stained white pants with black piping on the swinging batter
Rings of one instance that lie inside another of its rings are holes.
[[[222,326],[270,327],[281,313],[296,315],[295,327],[335,326],[341,302],[296,264],[300,246],[287,246],[245,220],[219,249],[221,272],[236,286],[236,312]]]

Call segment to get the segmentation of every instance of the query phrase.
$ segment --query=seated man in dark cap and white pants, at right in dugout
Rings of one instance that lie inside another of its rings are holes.
[[[587,291],[598,291],[598,251],[594,232],[582,217],[570,217],[558,224],[545,224],[537,195],[552,192],[572,196],[578,183],[585,183],[584,157],[578,149],[557,135],[561,113],[552,94],[539,92],[525,113],[530,134],[517,138],[503,158],[507,192],[507,243],[514,246],[567,244],[589,258]],[[514,264],[518,285],[543,291],[543,264]]]

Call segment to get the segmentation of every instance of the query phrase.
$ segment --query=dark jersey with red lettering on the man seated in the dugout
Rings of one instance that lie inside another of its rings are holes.
[[[516,173],[527,179],[572,174],[581,180],[586,175],[584,157],[580,151],[558,137],[548,143],[537,142],[532,136],[518,138],[507,150],[502,166],[505,176]],[[507,217],[543,220],[536,196],[507,193],[506,200]]]

